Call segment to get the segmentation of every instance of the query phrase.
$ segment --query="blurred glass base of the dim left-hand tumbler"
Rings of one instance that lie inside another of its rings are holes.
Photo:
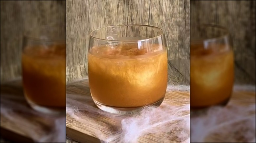
[[[27,100],[29,105],[36,111],[44,113],[44,114],[51,114],[51,115],[62,115],[66,114],[65,108],[54,108],[54,107],[45,107],[41,105],[37,105],[29,100]]]

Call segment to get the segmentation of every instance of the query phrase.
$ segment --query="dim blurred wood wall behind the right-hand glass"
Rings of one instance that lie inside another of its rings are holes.
[[[255,5],[251,0],[190,0],[190,29],[198,23],[227,27],[235,52],[235,82],[255,85]]]

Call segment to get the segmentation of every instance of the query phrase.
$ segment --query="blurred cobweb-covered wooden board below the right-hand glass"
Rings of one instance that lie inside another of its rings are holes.
[[[212,108],[209,115],[206,114],[206,110],[201,110],[198,113],[190,112],[190,123],[194,123],[198,119],[204,123],[208,120],[203,130],[195,130],[193,126],[190,126],[190,133],[193,132],[193,129],[195,132],[199,132],[201,137],[203,136],[202,142],[255,142],[253,141],[255,137],[255,126],[253,125],[255,124],[255,91],[253,91],[255,86],[251,86],[249,91],[248,89],[245,91],[244,87],[242,87],[244,89],[236,87],[238,86],[235,86],[235,91],[224,109],[215,108],[214,110]],[[212,124],[214,121],[218,122],[218,119],[220,119],[218,124]],[[218,128],[216,128],[217,126]],[[211,132],[208,132],[209,130]],[[205,135],[202,135],[203,133]],[[191,140],[196,142],[195,139],[198,140],[198,138]]]

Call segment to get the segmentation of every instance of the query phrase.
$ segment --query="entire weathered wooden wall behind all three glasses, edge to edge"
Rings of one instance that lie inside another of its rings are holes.
[[[1,1],[1,81],[20,76],[22,33],[40,24],[65,22],[65,5],[65,1]],[[191,13],[189,8],[188,0],[67,0],[67,80],[87,75],[91,30],[114,24],[151,24],[165,30],[169,69],[178,78],[174,81],[188,83],[189,68],[182,67],[189,66],[183,61],[189,59],[190,17],[192,27],[196,22],[229,27],[236,82],[255,84],[255,1],[191,1]]]

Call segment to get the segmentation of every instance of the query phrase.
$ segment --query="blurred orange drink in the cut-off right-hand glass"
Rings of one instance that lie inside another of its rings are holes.
[[[214,46],[214,45],[213,45]],[[224,45],[203,49],[190,45],[190,106],[207,107],[228,101],[234,83],[234,56]]]

